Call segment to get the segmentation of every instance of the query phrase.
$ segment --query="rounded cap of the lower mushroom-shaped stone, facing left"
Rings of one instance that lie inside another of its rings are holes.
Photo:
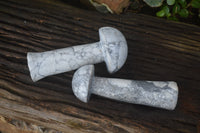
[[[73,76],[72,90],[74,95],[81,101],[87,103],[91,95],[91,83],[94,76],[94,66],[85,65],[80,67]]]

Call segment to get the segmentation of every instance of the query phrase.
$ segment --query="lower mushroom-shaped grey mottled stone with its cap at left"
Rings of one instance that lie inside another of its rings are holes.
[[[176,107],[178,86],[173,81],[137,81],[94,77],[94,66],[79,68],[72,80],[75,96],[88,102],[91,94],[168,110]]]

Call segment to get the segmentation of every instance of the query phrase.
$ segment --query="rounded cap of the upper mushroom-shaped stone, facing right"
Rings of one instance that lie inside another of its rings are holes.
[[[99,29],[100,47],[103,52],[108,72],[118,71],[125,63],[128,47],[124,35],[112,27]]]

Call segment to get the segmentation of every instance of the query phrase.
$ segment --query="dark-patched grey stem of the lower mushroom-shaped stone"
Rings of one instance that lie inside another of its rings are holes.
[[[94,77],[92,93],[128,103],[173,110],[178,87],[173,81],[135,81]]]

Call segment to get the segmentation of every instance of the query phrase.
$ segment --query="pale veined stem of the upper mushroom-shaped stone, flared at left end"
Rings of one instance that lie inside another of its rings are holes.
[[[28,66],[33,81],[46,76],[75,70],[83,65],[96,64],[103,61],[99,42],[79,45],[47,52],[29,52]]]

